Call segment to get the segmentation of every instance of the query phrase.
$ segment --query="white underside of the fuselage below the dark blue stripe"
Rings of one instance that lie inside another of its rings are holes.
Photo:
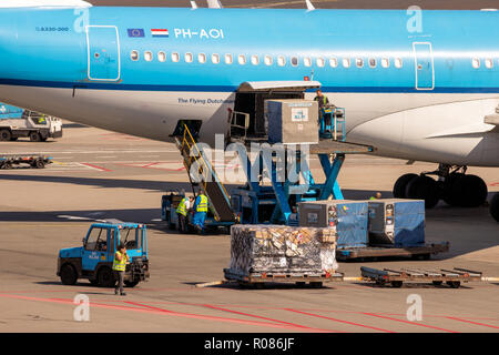
[[[312,99],[314,94],[308,94]],[[376,154],[458,165],[499,166],[499,131],[483,119],[498,94],[327,93],[346,109],[347,140]],[[179,120],[203,121],[214,144],[227,131],[231,92],[81,90],[0,85],[0,101],[74,122],[171,142]]]

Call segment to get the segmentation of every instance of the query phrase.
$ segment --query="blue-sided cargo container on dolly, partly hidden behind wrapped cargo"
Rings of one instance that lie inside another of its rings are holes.
[[[350,200],[303,202],[299,225],[336,229],[338,248],[366,247],[368,204]]]

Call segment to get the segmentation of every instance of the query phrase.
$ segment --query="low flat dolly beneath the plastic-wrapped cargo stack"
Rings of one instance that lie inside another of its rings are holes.
[[[342,273],[249,273],[242,274],[230,268],[224,268],[227,281],[237,282],[240,285],[262,285],[263,283],[295,283],[298,286],[307,282],[313,287],[322,287],[325,282],[344,281]]]

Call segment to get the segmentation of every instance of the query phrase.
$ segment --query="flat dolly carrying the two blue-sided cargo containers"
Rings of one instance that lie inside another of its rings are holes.
[[[450,243],[431,243],[421,246],[397,247],[394,245],[352,247],[336,251],[338,261],[363,261],[378,257],[418,257],[429,260],[431,254],[447,253]]]

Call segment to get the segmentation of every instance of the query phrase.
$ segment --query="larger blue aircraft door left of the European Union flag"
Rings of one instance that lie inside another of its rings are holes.
[[[115,26],[88,26],[88,60],[90,80],[120,80],[120,38]]]

